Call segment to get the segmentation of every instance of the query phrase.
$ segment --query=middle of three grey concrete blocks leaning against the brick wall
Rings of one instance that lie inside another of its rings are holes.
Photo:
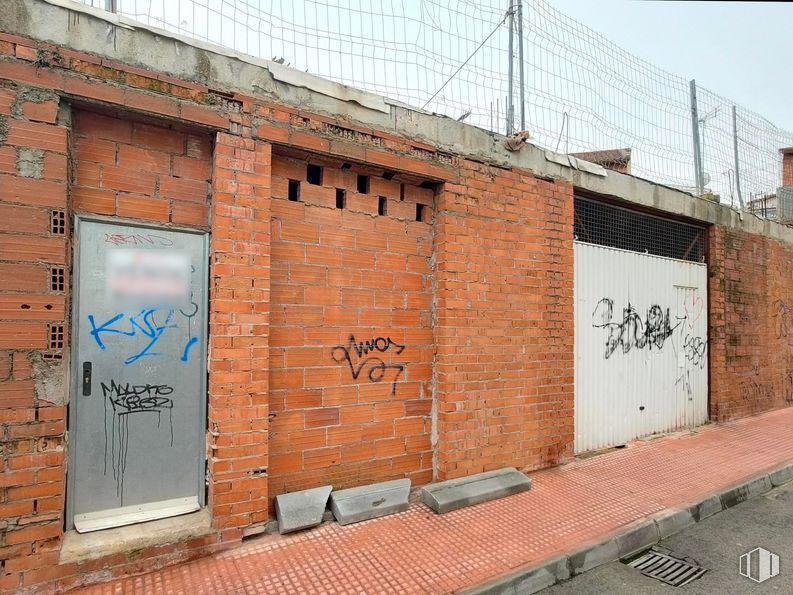
[[[330,495],[330,508],[340,525],[368,521],[410,508],[410,480],[395,479]]]

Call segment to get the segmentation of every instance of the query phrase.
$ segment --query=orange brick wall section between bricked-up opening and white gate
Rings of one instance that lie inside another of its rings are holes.
[[[437,223],[438,477],[572,456],[573,188],[466,163]]]

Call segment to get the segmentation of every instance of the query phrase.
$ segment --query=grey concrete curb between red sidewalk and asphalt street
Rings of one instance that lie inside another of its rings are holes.
[[[793,462],[730,486],[699,502],[639,519],[601,541],[524,566],[460,591],[463,595],[529,595],[603,564],[629,558],[683,529],[793,480]]]

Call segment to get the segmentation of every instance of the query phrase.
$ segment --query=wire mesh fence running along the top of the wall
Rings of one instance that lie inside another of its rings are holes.
[[[545,0],[81,1],[475,126],[525,128],[556,151],[630,149],[634,175],[736,207],[773,197],[779,149],[793,146],[702,87],[692,118],[688,80]]]

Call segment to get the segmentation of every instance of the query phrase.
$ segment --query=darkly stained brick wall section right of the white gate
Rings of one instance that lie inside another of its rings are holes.
[[[793,404],[793,247],[710,229],[710,416]]]

